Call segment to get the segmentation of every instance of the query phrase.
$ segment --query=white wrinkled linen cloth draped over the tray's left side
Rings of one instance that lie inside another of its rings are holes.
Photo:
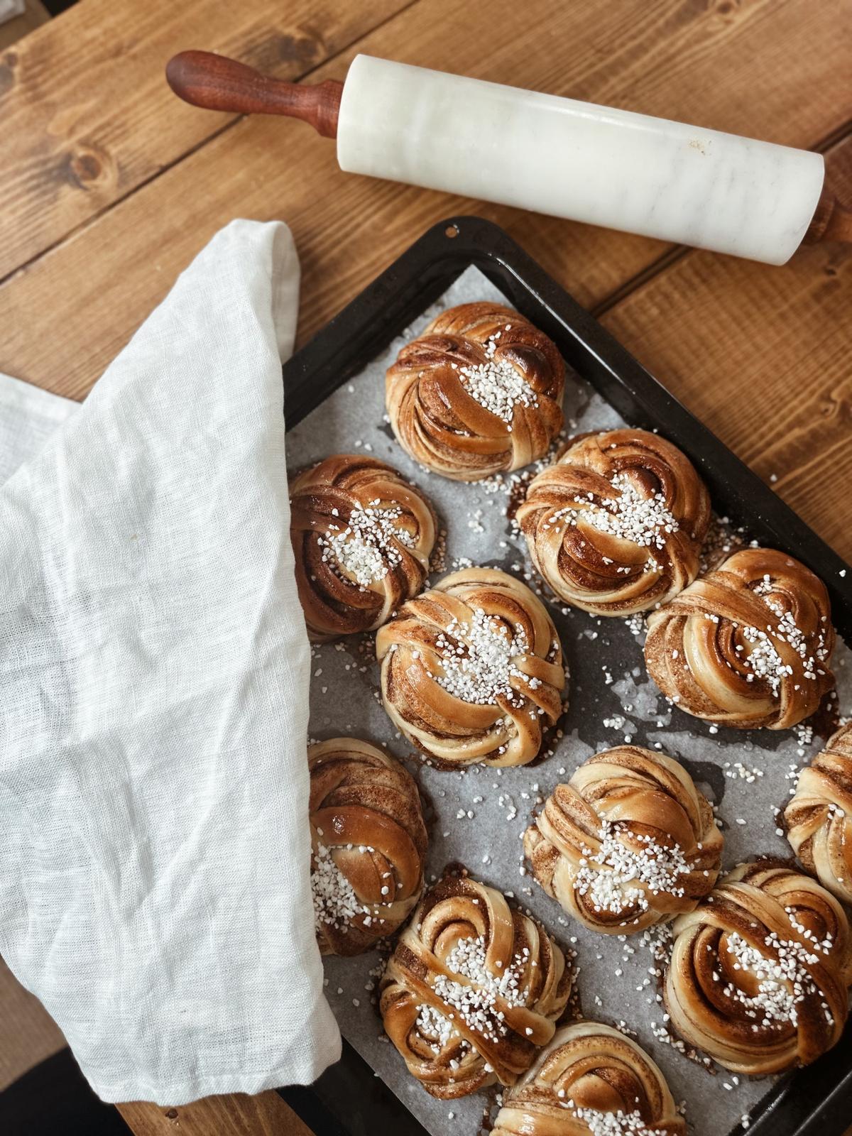
[[[11,435],[37,450],[0,488],[0,954],[106,1101],[340,1056],[289,540],[298,291],[286,226],[234,222],[82,407],[0,383],[0,469]]]

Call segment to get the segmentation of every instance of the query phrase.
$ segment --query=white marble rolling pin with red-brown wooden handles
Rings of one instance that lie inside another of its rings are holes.
[[[206,51],[168,64],[182,99],[302,118],[341,169],[783,265],[852,240],[809,150],[357,56],[345,83],[286,83]]]

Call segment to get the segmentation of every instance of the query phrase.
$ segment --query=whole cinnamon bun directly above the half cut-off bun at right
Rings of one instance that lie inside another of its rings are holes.
[[[787,729],[834,686],[825,584],[774,549],[743,549],[648,619],[645,663],[682,710]]]

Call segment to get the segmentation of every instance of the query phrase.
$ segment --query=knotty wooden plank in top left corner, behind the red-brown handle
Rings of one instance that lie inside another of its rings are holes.
[[[410,0],[82,0],[0,56],[0,278],[220,131],[164,78],[187,47],[298,78]]]

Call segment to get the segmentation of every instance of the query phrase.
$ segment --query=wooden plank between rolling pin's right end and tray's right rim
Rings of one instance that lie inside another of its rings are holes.
[[[828,161],[852,185],[852,137]],[[690,252],[602,321],[852,561],[852,245],[769,270]]]

